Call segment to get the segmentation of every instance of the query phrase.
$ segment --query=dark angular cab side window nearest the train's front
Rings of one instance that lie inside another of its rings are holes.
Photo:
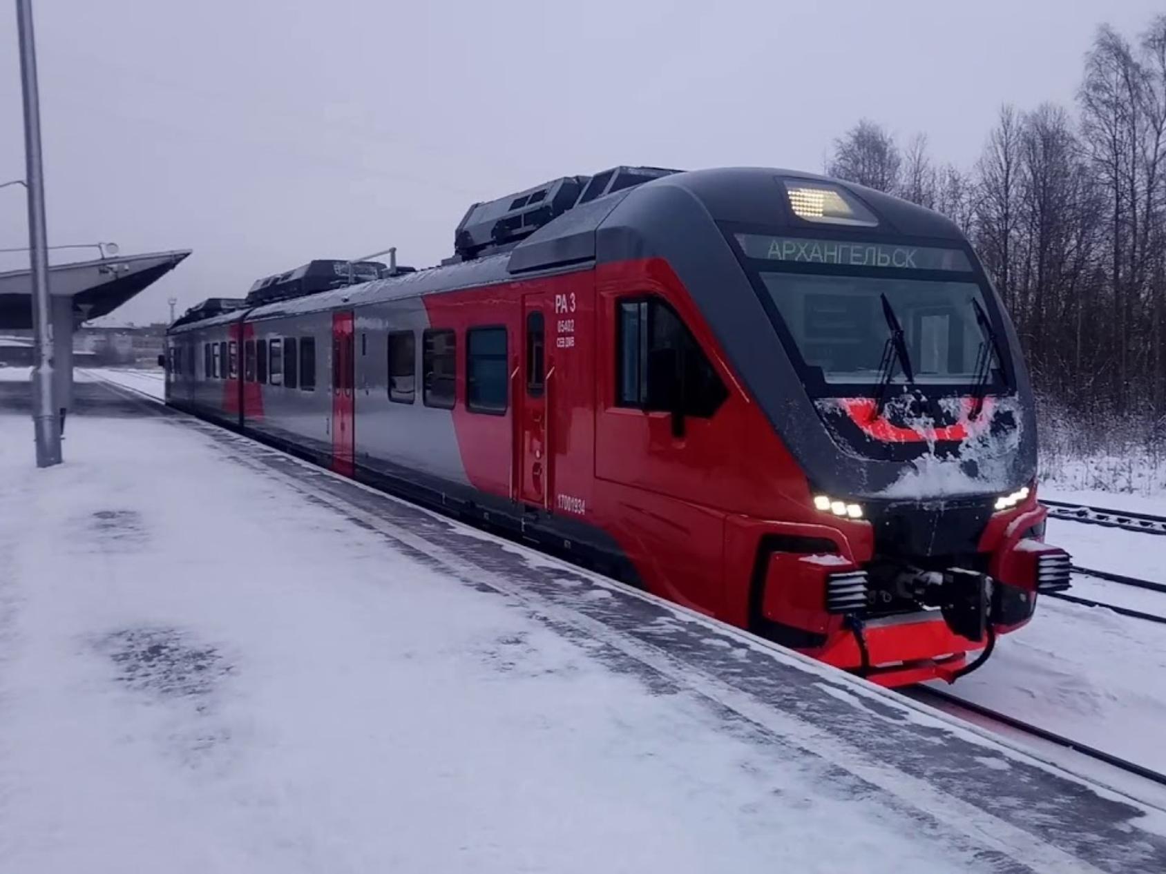
[[[676,312],[658,298],[620,301],[616,403],[709,418],[729,393]]]

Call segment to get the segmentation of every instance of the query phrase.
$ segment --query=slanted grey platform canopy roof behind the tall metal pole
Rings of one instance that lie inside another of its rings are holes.
[[[73,326],[105,316],[177,267],[190,249],[54,265],[49,294],[72,302]],[[0,273],[0,329],[33,326],[30,270]]]

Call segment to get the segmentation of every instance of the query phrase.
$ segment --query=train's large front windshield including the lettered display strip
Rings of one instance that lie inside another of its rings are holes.
[[[982,378],[1000,390],[989,304],[958,249],[737,234],[773,302],[779,329],[815,394],[855,395],[884,379],[907,381],[890,347],[901,329],[914,383],[970,388]],[[998,333],[998,332],[997,332]],[[981,374],[984,357],[990,368]]]

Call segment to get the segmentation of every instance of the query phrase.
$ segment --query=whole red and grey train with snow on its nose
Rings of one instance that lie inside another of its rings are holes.
[[[1068,585],[1016,332],[948,219],[624,167],[475,204],[455,251],[209,301],[168,402],[886,685]]]

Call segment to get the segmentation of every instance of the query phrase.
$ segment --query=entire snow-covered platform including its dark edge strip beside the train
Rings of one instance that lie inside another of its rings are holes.
[[[1166,871],[1160,810],[82,393],[59,467],[0,414],[0,871]]]

